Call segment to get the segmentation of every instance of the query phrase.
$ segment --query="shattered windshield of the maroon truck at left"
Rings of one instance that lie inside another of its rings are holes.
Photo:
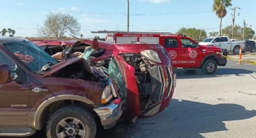
[[[43,65],[57,64],[54,58],[30,41],[5,43],[3,46],[24,62],[32,71],[40,71]]]

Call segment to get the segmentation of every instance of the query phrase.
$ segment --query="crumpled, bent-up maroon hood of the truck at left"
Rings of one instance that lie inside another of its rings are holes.
[[[75,64],[76,62],[81,62],[81,65],[86,65],[86,60],[83,58],[70,58],[65,61],[59,62],[58,64],[55,64],[51,67],[51,69],[45,71],[45,74],[43,74],[43,77],[51,76],[51,74],[56,73],[57,71],[61,70],[64,67],[67,67],[68,65]]]

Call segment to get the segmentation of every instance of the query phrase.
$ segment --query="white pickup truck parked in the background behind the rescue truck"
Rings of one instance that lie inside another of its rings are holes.
[[[204,41],[199,42],[202,46],[216,46],[223,50],[231,51],[239,54],[240,47],[245,48],[245,41],[231,41],[228,37],[208,37]]]

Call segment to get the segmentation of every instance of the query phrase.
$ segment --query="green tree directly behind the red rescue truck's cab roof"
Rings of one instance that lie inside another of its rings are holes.
[[[207,37],[207,32],[204,29],[196,29],[196,28],[181,28],[177,32],[177,34],[187,35],[190,38],[201,41]]]

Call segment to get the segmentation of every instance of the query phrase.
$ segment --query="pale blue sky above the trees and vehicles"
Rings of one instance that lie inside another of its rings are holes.
[[[16,36],[37,37],[37,28],[43,25],[49,12],[65,12],[81,24],[84,37],[94,37],[90,31],[127,30],[127,0],[0,0],[0,29],[16,30]],[[212,12],[213,0],[130,0],[130,31],[177,32],[182,27],[219,30],[219,18]],[[255,0],[233,0],[236,24],[256,29]],[[222,26],[231,25],[232,10],[223,19]],[[240,16],[238,16],[240,13]]]

